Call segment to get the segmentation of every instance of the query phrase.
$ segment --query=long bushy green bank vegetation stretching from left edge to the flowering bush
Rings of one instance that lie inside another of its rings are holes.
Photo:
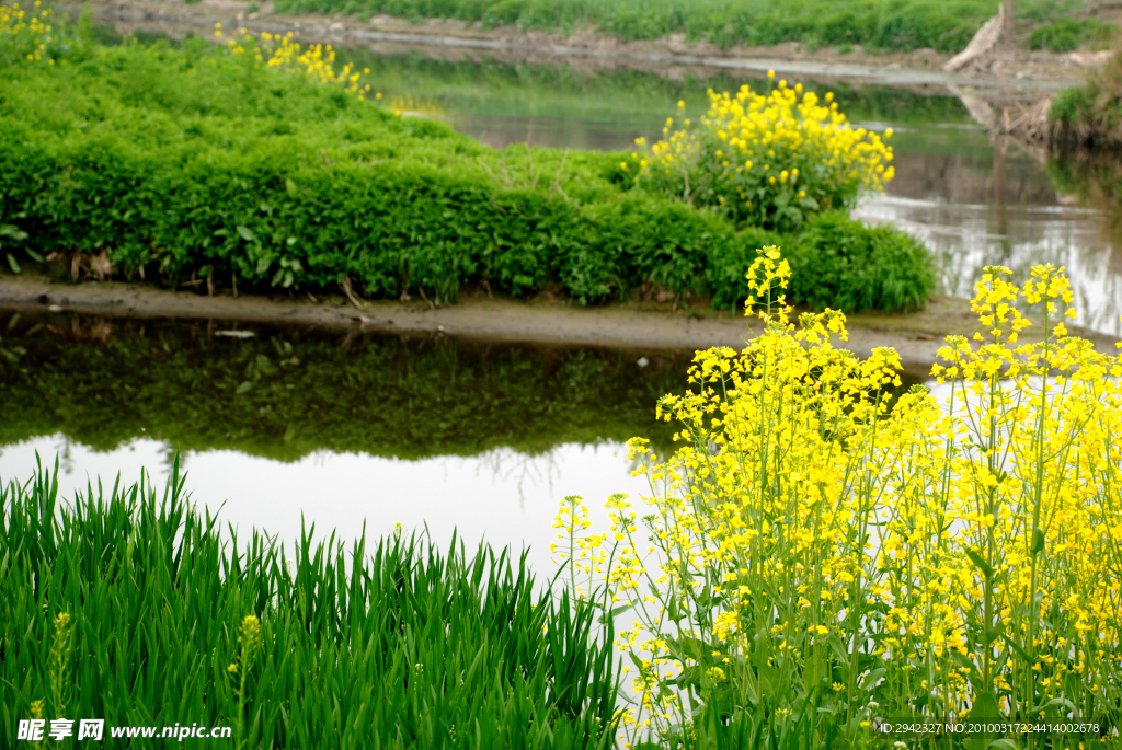
[[[496,151],[234,52],[85,43],[13,67],[0,222],[28,233],[28,257],[104,253],[171,285],[346,279],[434,304],[555,283],[587,304],[652,286],[703,298],[710,259],[746,250],[721,216],[632,187],[618,154]]]

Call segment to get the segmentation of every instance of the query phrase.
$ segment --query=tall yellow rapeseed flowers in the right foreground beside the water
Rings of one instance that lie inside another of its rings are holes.
[[[840,348],[842,313],[794,325],[790,269],[760,251],[761,335],[698,352],[690,390],[660,400],[673,455],[631,441],[644,528],[614,496],[583,537],[610,561],[589,598],[635,612],[632,742],[708,704],[800,747],[864,743],[879,716],[1118,717],[1122,358],[1068,335],[1063,271],[985,270],[982,331],[947,339],[938,399],[901,392],[893,350]],[[1022,342],[1026,306],[1043,331]]]

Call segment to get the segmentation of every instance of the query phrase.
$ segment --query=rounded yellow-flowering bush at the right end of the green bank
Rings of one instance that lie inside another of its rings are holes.
[[[769,74],[773,75],[773,74]],[[640,151],[622,169],[696,205],[717,206],[736,221],[791,229],[808,213],[850,205],[861,189],[880,191],[892,179],[892,149],[864,128],[854,128],[825,98],[789,87],[767,94],[747,85],[736,93],[709,90],[709,111],[693,123],[666,120],[663,139]]]

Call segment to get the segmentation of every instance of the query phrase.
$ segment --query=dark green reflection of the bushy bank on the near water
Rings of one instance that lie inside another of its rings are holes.
[[[651,405],[688,362],[647,353],[641,369],[628,352],[397,336],[341,345],[297,331],[211,339],[187,323],[27,316],[0,317],[0,445],[61,433],[111,451],[145,435],[178,451],[280,461],[316,451],[537,454],[640,433],[671,446]]]

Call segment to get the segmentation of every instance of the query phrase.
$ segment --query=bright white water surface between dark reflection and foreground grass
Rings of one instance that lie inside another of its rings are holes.
[[[38,437],[0,448],[0,482],[25,482],[35,472],[36,452],[53,469],[59,459],[59,497],[73,500],[98,478],[108,496],[120,472],[122,484],[147,470],[163,491],[174,454],[162,442],[138,438],[114,451],[98,452],[62,435]],[[277,535],[287,548],[301,522],[315,524],[315,537],[332,530],[344,541],[357,539],[366,525],[368,548],[392,534],[427,525],[432,540],[447,549],[453,530],[470,556],[486,539],[496,549],[530,547],[528,563],[539,581],[555,571],[550,544],[558,503],[582,496],[594,529],[607,530],[604,501],[627,492],[640,501],[646,479],[631,475],[627,446],[565,444],[536,456],[498,450],[472,457],[441,456],[421,461],[365,454],[321,452],[292,463],[236,451],[204,451],[181,456],[186,490],[199,507],[218,512],[240,540],[257,528]]]

